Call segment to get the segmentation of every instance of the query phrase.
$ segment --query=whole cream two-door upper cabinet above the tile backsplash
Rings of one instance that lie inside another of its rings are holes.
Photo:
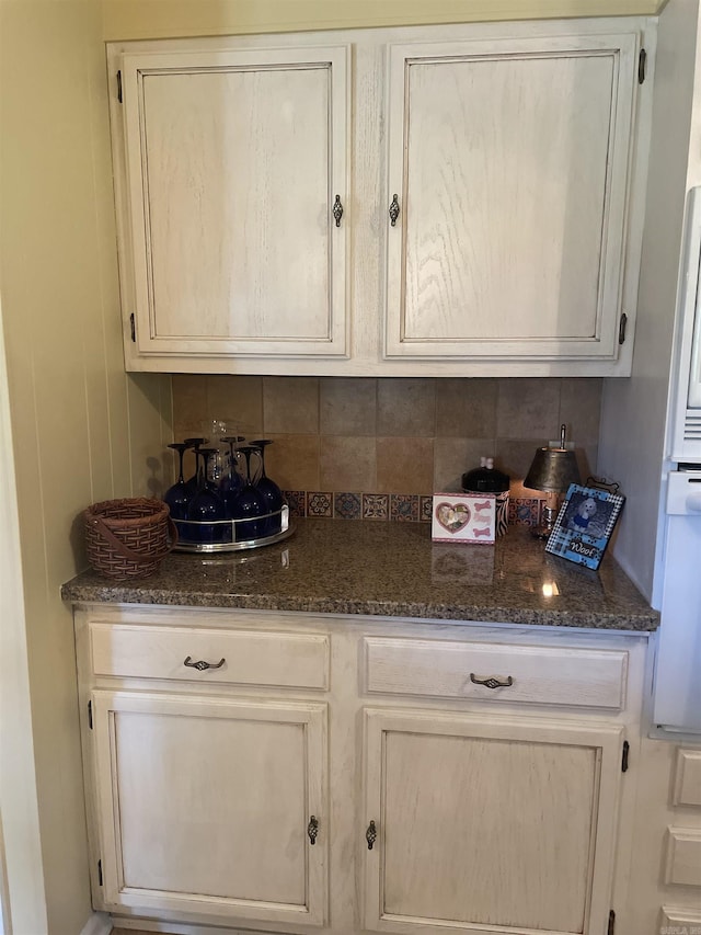
[[[654,39],[625,18],[111,46],[127,368],[629,374]]]

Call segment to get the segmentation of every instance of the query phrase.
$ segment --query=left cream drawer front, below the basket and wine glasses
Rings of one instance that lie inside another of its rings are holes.
[[[323,635],[94,623],[90,636],[95,675],[329,687],[329,637]],[[198,669],[199,662],[210,668]]]

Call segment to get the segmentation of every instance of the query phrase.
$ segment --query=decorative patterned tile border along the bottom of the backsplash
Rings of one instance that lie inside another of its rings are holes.
[[[321,490],[284,490],[290,516],[342,520],[376,520],[398,523],[430,523],[433,495],[424,493],[331,493]],[[538,526],[545,500],[512,498],[508,522],[512,526]]]

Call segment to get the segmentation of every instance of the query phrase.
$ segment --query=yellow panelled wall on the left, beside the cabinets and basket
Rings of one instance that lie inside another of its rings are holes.
[[[91,913],[72,625],[59,589],[83,563],[82,510],[147,492],[170,404],[168,378],[124,373],[104,72],[99,0],[0,0],[0,290],[56,935],[79,933]]]

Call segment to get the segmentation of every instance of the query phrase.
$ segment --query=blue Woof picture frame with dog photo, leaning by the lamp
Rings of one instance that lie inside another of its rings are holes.
[[[624,502],[620,493],[571,483],[545,551],[596,570]]]

